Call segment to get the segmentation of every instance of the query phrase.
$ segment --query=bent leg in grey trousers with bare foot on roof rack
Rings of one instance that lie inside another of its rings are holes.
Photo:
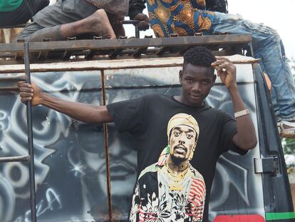
[[[26,26],[17,39],[58,41],[79,34],[95,34],[103,36],[105,39],[113,39],[114,36],[105,11],[98,10],[97,7],[85,0],[57,1],[56,4],[38,11],[33,17],[33,21],[38,24],[38,29]],[[50,27],[51,29],[49,29]],[[40,29],[44,30],[38,31]]]

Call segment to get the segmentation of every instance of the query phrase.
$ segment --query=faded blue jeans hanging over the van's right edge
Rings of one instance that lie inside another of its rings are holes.
[[[279,34],[274,29],[244,20],[239,15],[215,12],[212,28],[207,34],[220,32],[252,34],[254,57],[262,59],[263,68],[271,80],[274,90],[271,98],[276,114],[286,121],[295,120],[294,79]],[[279,109],[276,109],[277,106]]]

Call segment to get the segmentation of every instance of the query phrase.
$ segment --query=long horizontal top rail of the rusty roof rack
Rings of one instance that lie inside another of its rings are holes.
[[[154,39],[102,39],[76,41],[30,42],[30,51],[62,51],[86,49],[125,49],[135,47],[165,46],[197,46],[212,44],[247,44],[252,41],[251,35],[214,35],[214,36],[182,36],[174,38]],[[0,44],[0,52],[23,51],[22,43]]]

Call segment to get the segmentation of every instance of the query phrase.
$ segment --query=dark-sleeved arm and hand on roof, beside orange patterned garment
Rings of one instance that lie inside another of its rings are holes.
[[[138,29],[144,31],[150,28],[150,19],[146,14],[143,14],[143,9],[145,9],[145,0],[129,1],[128,16],[132,20],[139,20]]]

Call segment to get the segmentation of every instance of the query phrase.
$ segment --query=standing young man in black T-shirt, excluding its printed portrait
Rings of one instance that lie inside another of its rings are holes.
[[[217,77],[213,67],[232,96],[236,119],[205,102]],[[231,61],[222,57],[216,59],[204,47],[192,48],[185,53],[179,79],[182,85],[180,96],[150,94],[107,106],[57,99],[41,91],[36,84],[19,82],[19,90],[23,103],[31,101],[33,106],[41,104],[87,123],[114,122],[120,133],[130,133],[137,143],[138,175],[157,162],[163,147],[167,145],[166,128],[170,118],[177,113],[192,115],[200,127],[200,135],[198,148],[190,163],[205,180],[203,221],[207,221],[209,195],[218,157],[229,150],[245,154],[256,146],[257,138],[249,110],[239,94],[236,67]],[[152,196],[152,193],[149,195]],[[158,213],[157,216],[162,215]]]

